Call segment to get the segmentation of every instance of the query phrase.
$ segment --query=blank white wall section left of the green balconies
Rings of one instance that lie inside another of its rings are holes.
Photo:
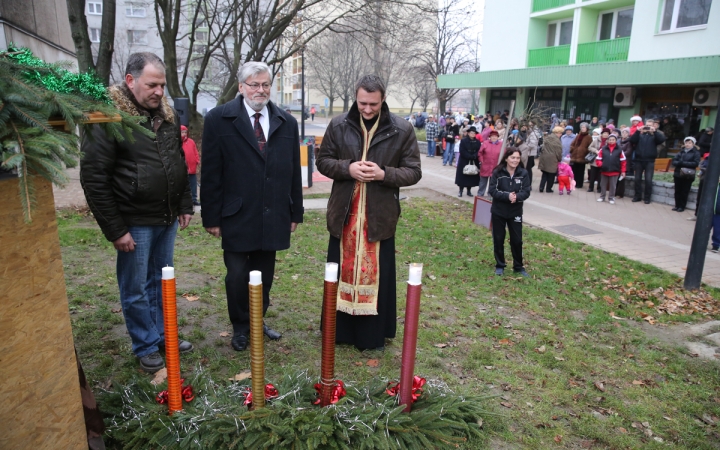
[[[526,67],[531,6],[531,0],[485,2],[481,72]]]

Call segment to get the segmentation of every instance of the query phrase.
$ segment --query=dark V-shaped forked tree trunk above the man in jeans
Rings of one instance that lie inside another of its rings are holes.
[[[90,36],[88,35],[85,0],[66,1],[70,33],[75,43],[78,69],[80,72],[95,72],[101,81],[108,84],[110,72],[112,71],[115,42],[115,0],[103,0],[102,2],[102,28],[97,60],[93,56]]]

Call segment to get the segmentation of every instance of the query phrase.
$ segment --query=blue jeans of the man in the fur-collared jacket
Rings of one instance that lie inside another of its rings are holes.
[[[158,351],[165,341],[162,268],[173,265],[177,221],[170,226],[131,226],[135,250],[117,254],[120,304],[132,350],[138,357]]]

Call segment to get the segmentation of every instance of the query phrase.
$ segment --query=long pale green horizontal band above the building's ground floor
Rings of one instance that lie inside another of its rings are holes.
[[[440,75],[441,89],[720,83],[720,55]]]

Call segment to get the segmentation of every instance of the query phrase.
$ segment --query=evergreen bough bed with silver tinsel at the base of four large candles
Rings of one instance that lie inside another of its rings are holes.
[[[314,406],[314,380],[307,372],[286,375],[278,396],[265,408],[244,406],[247,383],[221,386],[202,371],[190,383],[195,399],[168,415],[146,379],[100,394],[108,437],[125,449],[455,449],[480,436],[478,421],[495,415],[482,409],[489,398],[462,397],[444,384],[428,381],[404,413],[387,383],[346,385],[337,403]]]

